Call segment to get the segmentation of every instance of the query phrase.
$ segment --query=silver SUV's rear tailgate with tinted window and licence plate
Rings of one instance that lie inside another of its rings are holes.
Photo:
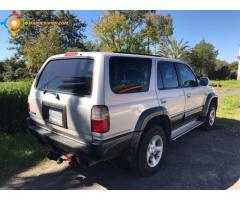
[[[30,117],[42,126],[80,141],[91,141],[94,60],[50,60],[29,95]]]

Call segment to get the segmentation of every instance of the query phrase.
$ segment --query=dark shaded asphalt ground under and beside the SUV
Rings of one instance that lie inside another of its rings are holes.
[[[234,121],[221,119],[220,122]],[[232,123],[232,122],[231,122]],[[140,177],[115,158],[86,169],[23,178],[9,189],[227,189],[240,178],[240,121],[235,127],[217,124],[200,128],[168,146],[165,162],[152,176]],[[238,126],[239,125],[239,126]]]

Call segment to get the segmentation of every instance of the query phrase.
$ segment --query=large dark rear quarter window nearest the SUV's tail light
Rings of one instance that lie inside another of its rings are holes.
[[[110,87],[114,93],[146,92],[149,88],[152,59],[112,57],[109,63]]]

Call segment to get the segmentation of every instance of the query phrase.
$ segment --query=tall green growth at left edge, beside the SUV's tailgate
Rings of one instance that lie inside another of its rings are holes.
[[[26,127],[27,96],[31,81],[0,83],[0,132]]]

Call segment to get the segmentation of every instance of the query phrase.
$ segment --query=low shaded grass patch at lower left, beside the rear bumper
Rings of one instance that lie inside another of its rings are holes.
[[[38,164],[46,148],[28,132],[0,133],[0,185],[11,176]]]

